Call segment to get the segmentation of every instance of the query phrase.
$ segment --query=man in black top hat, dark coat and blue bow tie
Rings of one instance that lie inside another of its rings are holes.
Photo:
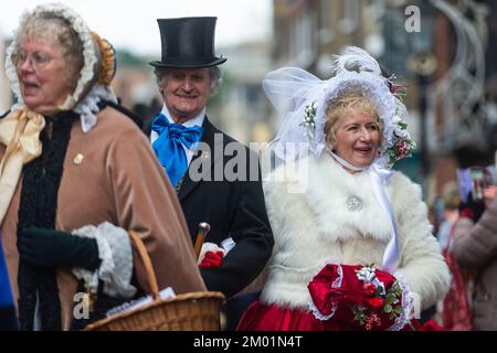
[[[262,271],[272,254],[273,234],[257,154],[216,129],[205,115],[221,83],[218,65],[226,61],[214,55],[215,21],[158,20],[162,55],[150,65],[163,107],[151,121],[150,140],[178,192],[192,242],[199,223],[210,225],[199,258],[201,274],[209,290],[229,298]],[[229,143],[244,158],[224,152]],[[231,178],[235,158],[244,162],[236,167],[237,178]]]

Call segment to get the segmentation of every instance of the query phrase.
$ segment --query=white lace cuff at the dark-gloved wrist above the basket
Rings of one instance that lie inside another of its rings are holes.
[[[128,233],[108,222],[97,227],[86,225],[72,232],[73,235],[95,238],[98,246],[101,266],[95,272],[85,268],[74,268],[77,279],[83,279],[94,293],[98,290],[98,279],[104,281],[104,293],[114,298],[131,298],[136,288],[130,284],[133,276],[133,253]]]

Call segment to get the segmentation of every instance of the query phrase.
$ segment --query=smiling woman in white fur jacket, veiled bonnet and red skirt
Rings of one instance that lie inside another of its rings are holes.
[[[265,183],[275,247],[239,330],[422,329],[414,317],[448,288],[421,189],[390,169],[415,147],[399,87],[358,47],[334,72],[264,79],[286,115]]]

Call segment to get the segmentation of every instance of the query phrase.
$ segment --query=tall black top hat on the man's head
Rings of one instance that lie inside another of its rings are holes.
[[[158,19],[162,45],[161,67],[209,67],[226,58],[214,56],[214,30],[218,18]]]

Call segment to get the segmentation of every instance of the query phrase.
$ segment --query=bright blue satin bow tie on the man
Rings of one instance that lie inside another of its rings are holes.
[[[189,149],[194,142],[200,141],[203,129],[200,126],[187,128],[179,124],[171,124],[163,114],[154,118],[151,129],[159,135],[152,143],[154,151],[166,169],[171,184],[177,186],[188,169],[183,146]]]

